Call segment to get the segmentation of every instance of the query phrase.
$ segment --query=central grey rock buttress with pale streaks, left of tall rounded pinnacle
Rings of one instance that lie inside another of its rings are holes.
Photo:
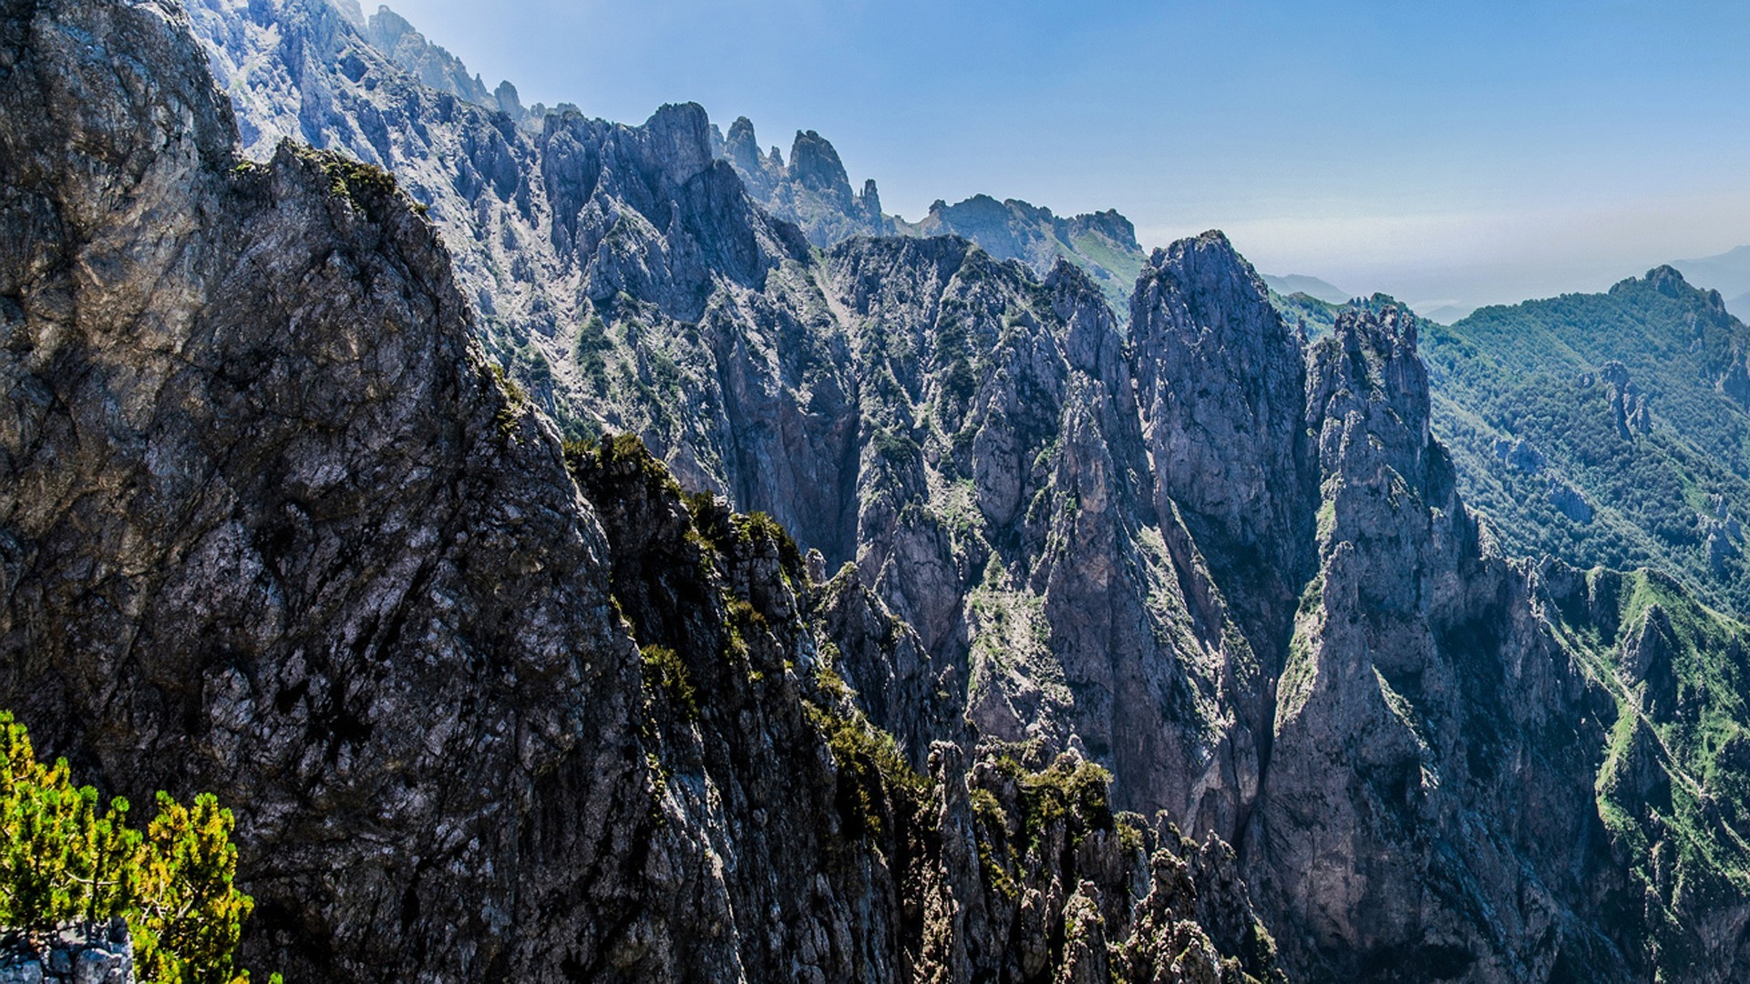
[[[1190,534],[1158,515],[1124,340],[1085,273],[1032,282],[964,240],[828,254],[859,389],[858,566],[964,706],[1083,748],[1125,805],[1232,832],[1256,667]]]

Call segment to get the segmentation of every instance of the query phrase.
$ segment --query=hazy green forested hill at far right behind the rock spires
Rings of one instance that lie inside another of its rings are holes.
[[[1508,553],[1659,566],[1750,611],[1750,329],[1671,266],[1423,326],[1435,431]]]

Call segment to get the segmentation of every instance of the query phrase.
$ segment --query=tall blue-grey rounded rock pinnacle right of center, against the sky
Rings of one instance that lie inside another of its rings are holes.
[[[1178,506],[1274,676],[1309,574],[1316,487],[1306,341],[1265,296],[1220,233],[1178,242],[1138,280],[1130,341],[1157,508]],[[1267,711],[1253,713],[1267,730]]]

